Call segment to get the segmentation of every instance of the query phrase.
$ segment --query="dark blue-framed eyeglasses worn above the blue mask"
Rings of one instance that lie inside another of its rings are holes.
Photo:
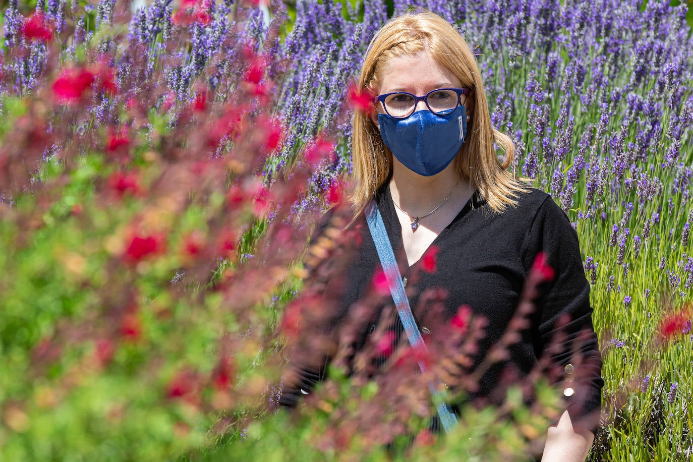
[[[428,107],[430,112],[444,116],[457,109],[462,95],[469,96],[469,90],[466,88],[438,88],[429,91],[423,96],[416,96],[406,91],[395,91],[394,93],[376,96],[373,102],[378,103],[380,101],[387,115],[394,118],[411,116],[414,114],[416,105],[421,100],[426,103],[426,107]]]

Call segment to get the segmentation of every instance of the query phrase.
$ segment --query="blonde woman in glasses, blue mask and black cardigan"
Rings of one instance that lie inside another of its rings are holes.
[[[603,381],[577,234],[547,194],[507,172],[514,147],[491,126],[471,49],[441,17],[408,12],[374,37],[359,86],[375,98],[370,112],[354,116],[351,202],[359,211],[371,201],[377,205],[404,282],[427,249],[438,249],[437,271],[418,278],[416,292],[441,287],[448,292],[446,316],[468,305],[489,319],[480,341],[483,351],[505,332],[535,256],[547,256],[556,276],[543,287],[531,325],[509,352],[507,364],[520,375],[529,373],[566,315],[566,345],[587,330],[579,345],[584,358],[579,373],[586,380],[566,393],[572,404],[548,429],[543,454],[543,460],[584,460],[597,426]],[[502,164],[495,146],[505,152]],[[356,221],[362,222],[362,215]],[[380,265],[364,229],[342,301],[347,307],[365,294]],[[410,304],[416,306],[415,297]],[[573,373],[569,349],[552,360]],[[490,393],[501,374],[501,367],[486,373],[480,394]],[[311,377],[317,379],[304,373],[303,393]],[[296,396],[288,390],[282,400],[290,405]]]

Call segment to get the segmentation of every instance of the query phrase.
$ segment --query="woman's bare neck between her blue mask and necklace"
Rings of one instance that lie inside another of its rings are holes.
[[[466,189],[453,164],[437,175],[423,177],[395,160],[389,183],[392,199],[412,216],[425,215],[444,201],[458,182],[462,184],[457,190]]]

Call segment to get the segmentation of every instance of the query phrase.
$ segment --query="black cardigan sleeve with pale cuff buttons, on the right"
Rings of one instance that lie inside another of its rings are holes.
[[[531,267],[543,252],[554,269],[552,281],[539,287],[532,337],[536,357],[560,371],[561,393],[574,427],[597,432],[602,405],[602,354],[592,322],[590,285],[585,276],[577,233],[568,216],[547,196],[526,238],[524,264]]]

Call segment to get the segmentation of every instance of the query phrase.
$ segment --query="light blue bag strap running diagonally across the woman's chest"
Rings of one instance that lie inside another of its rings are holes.
[[[373,242],[376,244],[378,258],[380,258],[380,265],[383,265],[385,279],[387,280],[387,285],[392,293],[392,300],[397,307],[397,313],[399,314],[399,319],[402,321],[404,332],[406,333],[412,348],[421,348],[422,350],[426,350],[426,344],[423,342],[423,337],[421,337],[419,327],[416,326],[416,321],[414,321],[414,315],[412,314],[412,308],[409,305],[409,299],[407,299],[407,294],[404,292],[404,283],[402,282],[399,267],[397,266],[397,260],[394,258],[392,245],[390,245],[389,238],[387,237],[383,217],[380,215],[380,210],[378,210],[378,206],[374,201],[369,202],[365,208],[365,213],[368,228],[371,231]],[[419,369],[421,369],[421,373],[426,373],[426,364],[419,361]],[[457,417],[452,411],[450,411],[450,408],[448,408],[448,405],[446,405],[444,402],[443,396],[435,387],[435,384],[429,382],[428,389],[433,398],[433,403],[438,411],[438,416],[443,424],[443,428],[445,429],[445,432],[448,433],[450,432],[450,429],[457,424]]]

